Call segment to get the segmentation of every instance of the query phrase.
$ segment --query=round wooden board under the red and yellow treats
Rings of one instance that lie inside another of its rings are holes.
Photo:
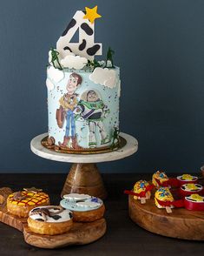
[[[204,212],[174,208],[167,213],[156,207],[154,198],[141,205],[132,195],[128,196],[128,212],[137,225],[150,232],[176,239],[204,240]]]

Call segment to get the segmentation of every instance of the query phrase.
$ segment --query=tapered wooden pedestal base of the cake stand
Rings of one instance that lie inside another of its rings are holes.
[[[100,199],[107,197],[102,176],[95,164],[73,164],[63,186],[62,198],[68,193],[85,193]]]

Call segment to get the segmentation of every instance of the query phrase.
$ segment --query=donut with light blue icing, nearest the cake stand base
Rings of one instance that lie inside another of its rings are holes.
[[[63,196],[60,205],[73,213],[76,222],[91,222],[102,219],[105,206],[101,199],[87,194],[71,193]]]

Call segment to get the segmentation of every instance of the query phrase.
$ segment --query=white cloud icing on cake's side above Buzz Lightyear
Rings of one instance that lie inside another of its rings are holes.
[[[109,88],[114,88],[117,82],[115,70],[103,69],[101,67],[95,68],[93,73],[90,74],[89,79],[95,84],[102,84]]]

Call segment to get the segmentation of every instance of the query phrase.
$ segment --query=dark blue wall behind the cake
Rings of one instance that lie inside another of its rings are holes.
[[[1,0],[0,171],[69,169],[36,157],[30,140],[47,131],[49,47],[76,10],[95,4],[95,41],[110,45],[121,67],[121,131],[139,140],[134,156],[100,164],[102,172],[196,172],[204,162],[202,0]]]

